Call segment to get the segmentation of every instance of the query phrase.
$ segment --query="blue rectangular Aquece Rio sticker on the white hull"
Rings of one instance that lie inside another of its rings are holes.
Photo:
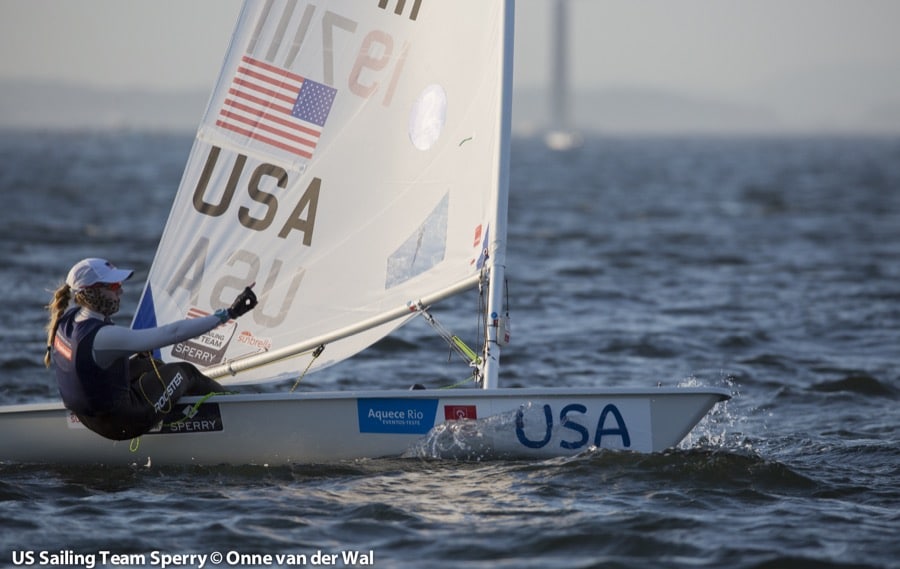
[[[434,426],[437,399],[357,399],[360,433],[424,435]]]

